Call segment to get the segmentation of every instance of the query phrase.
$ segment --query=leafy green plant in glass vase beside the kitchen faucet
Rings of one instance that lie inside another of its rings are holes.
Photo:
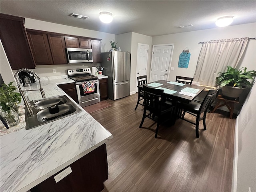
[[[15,92],[17,88],[12,83],[10,82],[8,85],[2,84],[0,88],[1,116],[9,126],[18,124],[20,114],[17,105],[21,102],[21,95]]]

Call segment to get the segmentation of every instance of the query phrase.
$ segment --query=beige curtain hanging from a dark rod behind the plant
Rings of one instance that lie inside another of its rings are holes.
[[[201,85],[216,86],[218,72],[226,71],[227,66],[236,68],[247,42],[248,37],[203,42],[194,81],[200,82]]]

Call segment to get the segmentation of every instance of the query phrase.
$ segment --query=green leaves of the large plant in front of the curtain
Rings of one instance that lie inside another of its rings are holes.
[[[216,77],[216,84],[221,87],[225,85],[239,88],[242,88],[243,85],[247,85],[249,87],[252,86],[248,79],[254,80],[253,77],[256,76],[256,71],[246,71],[246,67],[242,67],[239,70],[232,68],[231,66],[227,67],[228,69],[226,72],[219,72],[220,76]]]

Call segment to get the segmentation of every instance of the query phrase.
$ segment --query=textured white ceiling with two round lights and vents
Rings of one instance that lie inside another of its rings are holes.
[[[234,16],[231,25],[256,22],[255,0],[1,0],[0,10],[5,14],[111,34],[136,32],[148,36],[217,28],[217,18],[226,15]],[[112,12],[114,19],[110,24],[100,22],[101,11]],[[71,13],[89,18],[72,18]],[[179,28],[190,24],[193,26]]]

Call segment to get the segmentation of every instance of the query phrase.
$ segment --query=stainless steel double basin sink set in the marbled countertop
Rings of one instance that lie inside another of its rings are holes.
[[[66,95],[44,98],[30,102],[34,116],[25,116],[26,129],[31,129],[66,116],[76,114],[81,109]]]

